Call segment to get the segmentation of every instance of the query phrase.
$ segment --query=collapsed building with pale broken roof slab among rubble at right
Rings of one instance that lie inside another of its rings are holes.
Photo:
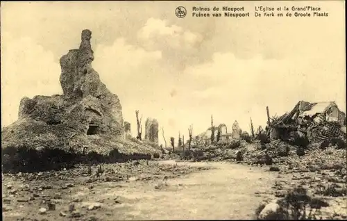
[[[346,139],[346,114],[339,110],[335,101],[299,101],[291,112],[273,119],[266,135],[271,140],[288,140],[292,136],[301,136],[310,142],[331,138]]]

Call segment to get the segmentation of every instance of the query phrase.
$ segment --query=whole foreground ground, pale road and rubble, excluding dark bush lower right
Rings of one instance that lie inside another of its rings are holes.
[[[314,185],[322,181],[346,185],[346,177],[340,179],[331,168],[312,172],[287,167],[269,171],[269,166],[230,162],[133,161],[103,165],[103,171],[81,165],[3,174],[3,219],[253,219],[262,201],[282,197],[293,186],[307,186],[314,194]],[[346,195],[320,196],[330,204],[322,209],[322,218],[347,218]]]

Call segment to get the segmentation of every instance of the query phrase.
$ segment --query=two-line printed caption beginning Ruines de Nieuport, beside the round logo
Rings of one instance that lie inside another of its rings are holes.
[[[249,17],[249,13],[244,13],[244,7],[193,7],[193,17]]]

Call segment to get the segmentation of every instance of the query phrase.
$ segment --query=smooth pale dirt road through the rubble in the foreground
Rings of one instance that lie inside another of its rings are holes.
[[[125,200],[124,204],[104,208],[112,211],[112,214],[101,219],[251,219],[255,208],[262,202],[261,193],[271,189],[277,176],[276,172],[265,172],[264,168],[250,169],[245,165],[230,163],[178,164],[210,165],[215,169],[160,183],[128,183],[117,190],[105,191],[105,186],[99,186],[96,193],[98,198],[121,195]]]

